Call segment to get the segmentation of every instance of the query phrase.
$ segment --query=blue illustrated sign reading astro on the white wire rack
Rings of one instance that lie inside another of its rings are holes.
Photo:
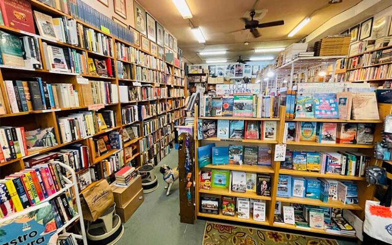
[[[55,212],[50,203],[39,204],[39,208],[14,218],[0,220],[1,245],[48,244],[57,231]]]

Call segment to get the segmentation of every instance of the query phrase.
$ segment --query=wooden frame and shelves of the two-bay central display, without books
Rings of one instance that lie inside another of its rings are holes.
[[[197,111],[197,108],[195,109]],[[307,231],[313,233],[321,233],[325,235],[334,235],[331,233],[326,232],[322,229],[315,229],[315,228],[302,228],[295,225],[288,225],[288,224],[278,224],[274,223],[274,210],[276,202],[281,202],[283,205],[289,205],[290,203],[297,203],[297,204],[307,204],[307,205],[315,205],[315,206],[324,206],[324,207],[332,207],[332,208],[341,208],[341,209],[349,209],[353,211],[357,216],[359,216],[362,220],[364,219],[364,207],[366,200],[373,200],[375,194],[375,186],[368,186],[367,182],[365,181],[364,177],[357,177],[357,176],[344,176],[338,174],[321,174],[315,173],[310,171],[299,171],[299,170],[291,170],[291,169],[281,169],[280,162],[274,161],[274,149],[276,144],[280,144],[283,142],[283,130],[286,121],[285,119],[285,106],[280,107],[280,115],[278,118],[254,118],[254,117],[199,117],[198,113],[195,113],[195,125],[197,125],[198,119],[225,119],[225,120],[261,120],[261,121],[268,121],[268,120],[275,120],[277,121],[277,138],[275,141],[272,140],[253,140],[253,139],[219,139],[216,137],[207,138],[203,140],[197,139],[197,132],[194,133],[195,137],[195,149],[199,146],[203,146],[208,143],[214,142],[217,146],[219,145],[229,145],[229,144],[242,144],[242,145],[257,145],[257,146],[264,146],[268,144],[272,147],[272,165],[271,166],[254,166],[254,165],[233,165],[233,164],[226,164],[226,165],[206,165],[203,169],[227,169],[227,170],[237,170],[237,171],[245,171],[245,172],[252,172],[252,173],[260,173],[260,174],[267,174],[271,176],[271,197],[265,197],[257,195],[256,192],[246,191],[244,193],[241,192],[232,192],[229,189],[222,189],[222,188],[213,188],[211,187],[210,190],[204,190],[199,188],[199,177],[195,178],[195,208],[196,208],[196,218],[202,219],[212,219],[212,220],[221,220],[222,222],[240,222],[240,223],[250,223],[255,225],[262,225],[262,226],[271,226],[276,228],[285,228],[285,229],[293,229],[293,230],[300,230],[300,231]],[[389,114],[391,111],[390,105],[379,105],[380,111],[380,118],[384,118],[385,115]],[[381,138],[381,131],[383,128],[383,120],[342,120],[342,119],[316,119],[316,118],[297,118],[291,119],[291,121],[321,121],[321,122],[365,122],[365,123],[372,123],[376,124],[375,127],[375,136],[374,142],[380,140]],[[197,129],[195,129],[197,130]],[[364,153],[366,155],[373,156],[374,152],[374,144],[364,145],[364,144],[325,144],[325,143],[316,143],[316,142],[294,142],[288,141],[287,143],[287,150],[307,150],[307,151],[352,151],[353,149],[357,149],[359,152]],[[198,164],[198,156],[197,151],[195,151],[195,173],[199,174],[201,168]],[[381,162],[376,160],[372,157],[370,165],[379,165],[381,166]],[[359,203],[358,205],[352,204],[343,204],[338,200],[328,200],[328,202],[322,202],[316,199],[309,199],[309,198],[296,198],[296,197],[277,197],[277,189],[278,189],[278,177],[279,174],[291,175],[291,176],[301,176],[301,177],[316,177],[316,178],[329,178],[335,180],[349,180],[355,181],[358,185],[358,198]],[[391,176],[389,175],[389,178]],[[235,216],[227,216],[222,214],[222,210],[219,207],[219,214],[209,214],[209,213],[202,213],[200,212],[200,197],[201,195],[207,195],[212,197],[220,197],[220,196],[228,196],[228,197],[241,197],[241,198],[252,198],[258,200],[265,200],[266,202],[266,212],[265,212],[265,222],[259,222],[252,218],[252,215],[249,219],[238,218],[237,214]],[[338,236],[344,237],[352,237],[344,234],[339,234]]]

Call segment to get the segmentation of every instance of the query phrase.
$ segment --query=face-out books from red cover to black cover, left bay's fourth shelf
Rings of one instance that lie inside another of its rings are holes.
[[[199,189],[229,189],[232,192],[256,192],[271,197],[271,176],[244,171],[202,170],[199,174]]]

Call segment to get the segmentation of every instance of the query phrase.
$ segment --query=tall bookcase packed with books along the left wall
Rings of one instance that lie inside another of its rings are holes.
[[[125,165],[158,163],[184,121],[177,53],[83,1],[48,4],[1,6],[0,177],[58,160],[84,192]]]

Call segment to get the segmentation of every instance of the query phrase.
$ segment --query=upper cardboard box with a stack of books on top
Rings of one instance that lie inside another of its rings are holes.
[[[115,182],[114,182],[115,183]],[[112,183],[110,187],[112,188],[114,195],[114,202],[116,203],[116,207],[124,208],[125,205],[135,197],[135,195],[139,192],[141,187],[141,177],[137,176],[129,186],[119,187]]]

